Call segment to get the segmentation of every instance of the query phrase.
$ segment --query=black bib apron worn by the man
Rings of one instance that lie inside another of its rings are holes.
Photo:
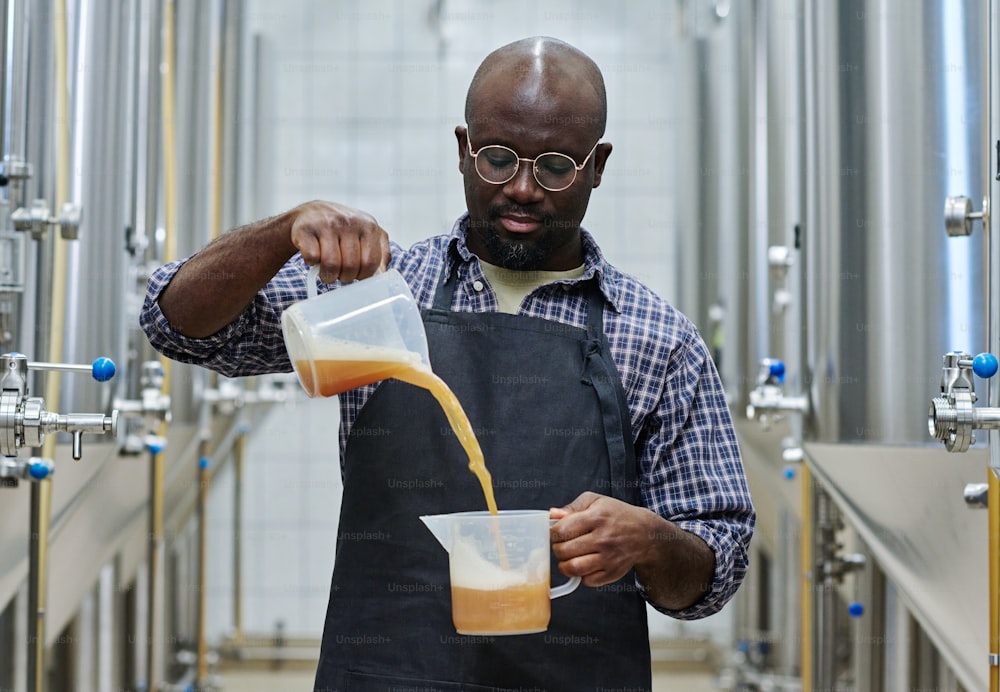
[[[560,507],[585,490],[639,504],[628,408],[596,281],[586,284],[583,330],[452,312],[455,273],[423,313],[431,367],[472,423],[499,508]],[[317,692],[651,688],[646,605],[632,572],[553,600],[546,632],[455,632],[448,554],[419,516],[485,509],[430,393],[383,382],[348,438]],[[558,584],[565,577],[555,562]]]

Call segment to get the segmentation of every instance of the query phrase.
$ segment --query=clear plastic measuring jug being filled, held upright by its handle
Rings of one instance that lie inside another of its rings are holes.
[[[553,598],[579,577],[550,586],[547,510],[458,512],[420,517],[448,551],[451,615],[459,634],[530,634],[548,629]]]

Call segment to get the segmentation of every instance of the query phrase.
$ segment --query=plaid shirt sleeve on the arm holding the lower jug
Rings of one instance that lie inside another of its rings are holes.
[[[642,492],[649,509],[715,553],[702,599],[683,610],[657,608],[694,620],[718,612],[743,582],[755,513],[725,393],[697,332],[671,354],[665,383],[641,454]]]

